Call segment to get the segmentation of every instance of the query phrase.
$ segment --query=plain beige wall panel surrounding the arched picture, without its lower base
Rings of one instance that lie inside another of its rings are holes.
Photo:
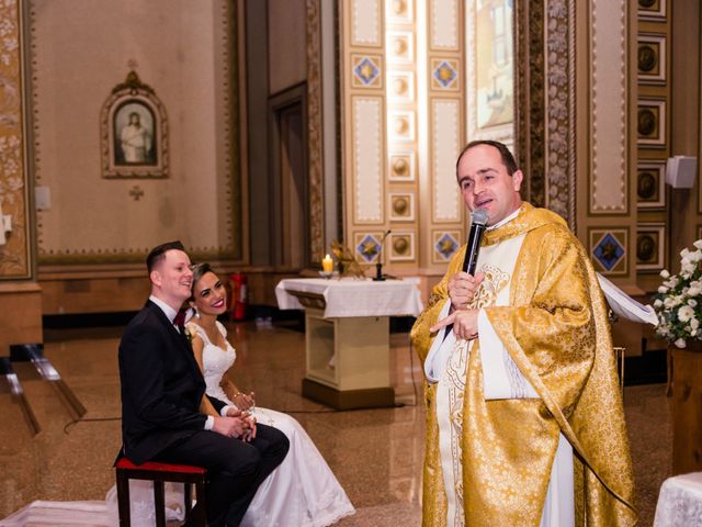
[[[228,250],[233,238],[225,0],[34,0],[32,74],[39,256],[138,254],[180,238]],[[107,180],[100,111],[134,68],[169,121],[170,175]]]

